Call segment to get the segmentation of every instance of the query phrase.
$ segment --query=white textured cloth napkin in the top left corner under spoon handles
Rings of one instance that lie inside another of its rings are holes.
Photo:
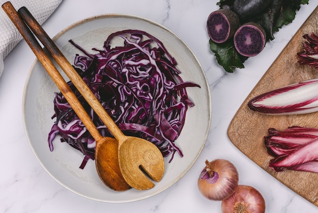
[[[3,5],[8,0],[0,0]],[[16,10],[25,6],[37,21],[42,24],[58,7],[62,0],[11,0]],[[4,70],[4,59],[11,50],[22,40],[5,11],[0,8],[0,76]]]

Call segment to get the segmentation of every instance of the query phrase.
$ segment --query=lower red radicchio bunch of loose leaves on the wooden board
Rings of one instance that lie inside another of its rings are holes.
[[[276,172],[289,170],[318,173],[318,129],[292,126],[284,131],[268,129],[267,152],[274,158],[269,168]]]

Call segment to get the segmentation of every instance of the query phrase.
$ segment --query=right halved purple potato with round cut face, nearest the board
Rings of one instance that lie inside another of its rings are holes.
[[[263,50],[265,43],[265,30],[255,22],[243,24],[234,34],[234,46],[242,56],[258,55]]]

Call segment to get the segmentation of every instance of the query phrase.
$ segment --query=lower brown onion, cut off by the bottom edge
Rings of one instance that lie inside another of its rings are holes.
[[[265,200],[262,194],[249,185],[238,185],[235,193],[222,200],[222,213],[264,213]]]

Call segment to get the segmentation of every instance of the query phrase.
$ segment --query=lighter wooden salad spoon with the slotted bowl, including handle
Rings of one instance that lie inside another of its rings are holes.
[[[154,183],[149,180],[146,174],[154,181],[160,181],[163,177],[165,163],[160,150],[147,140],[125,136],[29,11],[22,7],[18,13],[118,141],[119,168],[125,181],[137,190],[154,187]],[[13,20],[16,22],[15,19]],[[43,56],[39,55],[38,58],[41,57]]]

